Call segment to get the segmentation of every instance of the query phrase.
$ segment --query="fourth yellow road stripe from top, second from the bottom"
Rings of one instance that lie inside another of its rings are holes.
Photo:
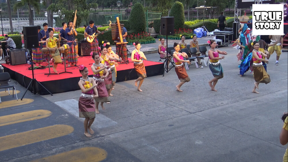
[[[65,136],[74,131],[70,125],[52,125],[0,137],[0,151]]]

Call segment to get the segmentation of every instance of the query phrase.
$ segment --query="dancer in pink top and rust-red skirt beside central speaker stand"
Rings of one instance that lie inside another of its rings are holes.
[[[174,43],[174,49],[175,52],[173,53],[173,59],[174,62],[176,64],[175,66],[175,71],[176,74],[180,80],[180,83],[178,85],[176,85],[176,90],[179,92],[183,92],[180,87],[185,83],[190,81],[189,76],[187,75],[187,72],[183,66],[182,62],[187,62],[188,64],[191,64],[189,60],[183,60],[183,57],[188,58],[188,55],[184,52],[184,53],[179,53],[180,50],[180,45],[178,43]]]

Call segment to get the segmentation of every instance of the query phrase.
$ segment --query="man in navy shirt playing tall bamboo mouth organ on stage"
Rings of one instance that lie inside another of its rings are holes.
[[[72,21],[68,22],[68,28],[66,28],[66,39],[68,41],[68,45],[70,46],[70,50],[68,52],[67,60],[68,60],[68,67],[74,66],[78,62],[77,53],[75,51],[75,43],[72,43],[75,40],[75,36],[78,35],[77,31],[75,30],[75,24]],[[73,34],[74,33],[74,34]]]

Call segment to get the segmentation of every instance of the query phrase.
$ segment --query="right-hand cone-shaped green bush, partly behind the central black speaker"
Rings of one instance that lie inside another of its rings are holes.
[[[181,2],[176,1],[171,8],[169,13],[170,17],[174,17],[174,29],[178,30],[179,28],[184,27],[185,16],[184,8]]]

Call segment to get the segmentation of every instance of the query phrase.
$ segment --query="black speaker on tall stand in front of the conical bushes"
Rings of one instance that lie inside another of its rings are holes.
[[[174,17],[161,17],[161,35],[174,35]]]

